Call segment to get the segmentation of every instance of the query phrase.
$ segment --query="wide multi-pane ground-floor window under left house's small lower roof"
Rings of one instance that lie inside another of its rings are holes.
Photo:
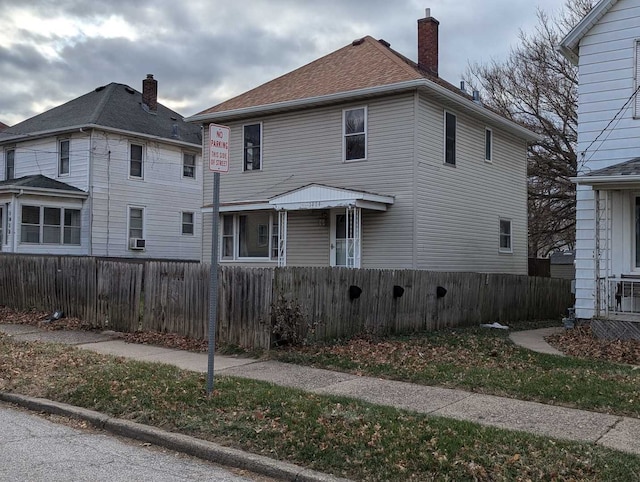
[[[80,210],[24,205],[20,240],[22,243],[79,245]]]

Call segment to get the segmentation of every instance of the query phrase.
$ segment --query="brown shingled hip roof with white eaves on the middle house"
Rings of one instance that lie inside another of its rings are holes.
[[[472,96],[390,48],[366,36],[296,70],[203,110],[188,122],[224,122],[255,115],[307,108],[424,89],[434,99],[454,103],[527,140],[538,136],[475,102]]]

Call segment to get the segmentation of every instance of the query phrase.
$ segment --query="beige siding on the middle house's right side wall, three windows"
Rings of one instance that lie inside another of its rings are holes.
[[[456,109],[456,165],[444,164],[444,107],[420,99],[416,166],[418,268],[527,273],[526,143]],[[485,128],[493,160],[485,161]],[[513,253],[499,252],[511,220]]]

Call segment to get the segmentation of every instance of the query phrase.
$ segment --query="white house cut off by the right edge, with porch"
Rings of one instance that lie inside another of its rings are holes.
[[[640,334],[640,0],[600,1],[560,50],[579,69],[576,317]]]

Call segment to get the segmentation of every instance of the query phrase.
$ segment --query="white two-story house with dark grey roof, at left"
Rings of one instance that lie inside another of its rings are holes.
[[[0,132],[3,252],[199,260],[200,127],[111,83]]]

